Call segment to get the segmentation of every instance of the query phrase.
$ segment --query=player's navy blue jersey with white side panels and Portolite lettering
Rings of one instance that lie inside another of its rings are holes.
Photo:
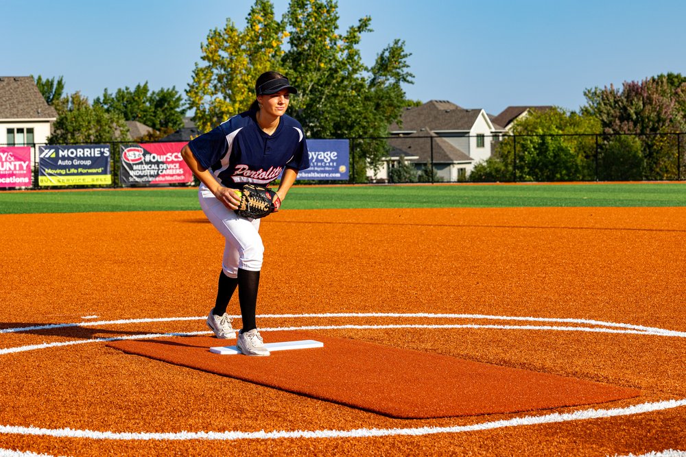
[[[303,127],[287,114],[268,135],[259,127],[255,111],[242,112],[191,140],[188,147],[204,168],[231,188],[248,182],[268,184],[285,168],[309,168]]]

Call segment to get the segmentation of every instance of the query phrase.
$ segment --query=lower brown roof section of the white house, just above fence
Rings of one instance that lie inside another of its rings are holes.
[[[428,138],[428,137],[431,138]],[[434,162],[473,162],[474,159],[467,156],[464,151],[451,145],[442,138],[429,131],[426,127],[418,129],[413,134],[394,137],[388,140],[391,146],[390,156],[417,156],[412,162],[429,162],[431,160],[431,145],[433,143]]]

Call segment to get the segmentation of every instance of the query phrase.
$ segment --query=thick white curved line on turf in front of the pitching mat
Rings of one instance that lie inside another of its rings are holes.
[[[331,438],[375,438],[380,436],[426,436],[432,434],[456,434],[480,432],[498,428],[520,427],[523,425],[541,425],[589,419],[606,419],[663,411],[686,406],[686,399],[665,400],[663,402],[643,403],[625,408],[588,409],[575,412],[558,413],[541,416],[515,417],[500,421],[475,423],[472,425],[453,425],[451,427],[416,427],[416,428],[357,428],[354,430],[274,430],[272,432],[98,432],[95,430],[75,430],[71,428],[37,428],[18,425],[0,425],[0,434],[22,434],[33,436],[51,436],[55,438],[78,438],[97,440],[215,440],[235,441],[244,439],[331,439]]]

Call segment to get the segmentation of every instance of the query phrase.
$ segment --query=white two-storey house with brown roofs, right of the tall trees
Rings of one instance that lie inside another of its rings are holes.
[[[493,143],[505,129],[493,123],[481,108],[460,108],[447,100],[431,100],[408,107],[401,122],[389,127],[391,152],[371,180],[388,179],[400,157],[417,170],[433,163],[442,180],[465,180],[474,164],[490,157]]]

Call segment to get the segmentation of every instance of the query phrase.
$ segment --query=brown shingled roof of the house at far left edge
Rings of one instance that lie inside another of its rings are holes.
[[[0,76],[0,119],[56,119],[30,76]]]

